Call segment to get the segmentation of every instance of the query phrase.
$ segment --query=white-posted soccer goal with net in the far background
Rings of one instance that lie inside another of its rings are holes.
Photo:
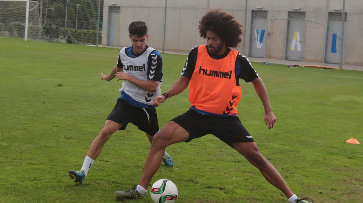
[[[31,0],[0,0],[0,36],[45,39],[38,5]]]

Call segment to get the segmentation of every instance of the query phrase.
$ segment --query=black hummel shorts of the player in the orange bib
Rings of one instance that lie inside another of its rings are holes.
[[[229,146],[234,142],[254,142],[252,136],[237,116],[199,114],[189,110],[172,119],[189,133],[189,142],[207,134],[212,134]]]

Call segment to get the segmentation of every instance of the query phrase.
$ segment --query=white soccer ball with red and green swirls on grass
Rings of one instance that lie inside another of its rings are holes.
[[[175,202],[178,197],[178,188],[168,179],[156,180],[150,190],[151,199],[155,203]]]

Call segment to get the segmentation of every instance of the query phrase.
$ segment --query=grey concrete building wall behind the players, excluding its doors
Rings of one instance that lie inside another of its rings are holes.
[[[166,0],[105,0],[103,11],[102,44],[107,42],[108,7],[116,4],[120,7],[122,21],[118,34],[117,46],[129,46],[128,25],[131,21],[145,21],[149,28],[148,45],[159,51],[163,49],[164,14]],[[268,11],[268,29],[266,32],[266,58],[285,59],[287,19],[289,11],[299,8],[306,12],[303,61],[324,62],[328,12],[342,9],[342,0],[167,0],[165,50],[188,52],[196,45],[204,44],[205,39],[199,35],[198,24],[201,17],[209,9],[222,8],[236,17],[244,25],[245,36],[236,48],[248,56],[250,46],[250,25],[252,10],[262,7]],[[247,11],[246,11],[247,10]],[[347,36],[345,64],[363,66],[363,1],[349,0],[345,2],[347,17]],[[247,15],[246,15],[247,14]],[[246,15],[246,18],[245,18]],[[310,22],[313,21],[313,22]],[[117,25],[110,25],[117,26]],[[243,49],[244,47],[244,49]]]

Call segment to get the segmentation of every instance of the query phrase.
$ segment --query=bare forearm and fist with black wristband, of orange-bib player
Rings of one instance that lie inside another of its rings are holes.
[[[185,90],[187,86],[189,85],[190,79],[185,76],[180,76],[180,78],[174,82],[174,84],[171,86],[171,88],[166,91],[163,95],[160,95],[158,97],[154,97],[152,100],[152,105],[159,106],[161,103],[163,103],[166,98],[175,96]],[[166,94],[166,95],[165,95]]]

